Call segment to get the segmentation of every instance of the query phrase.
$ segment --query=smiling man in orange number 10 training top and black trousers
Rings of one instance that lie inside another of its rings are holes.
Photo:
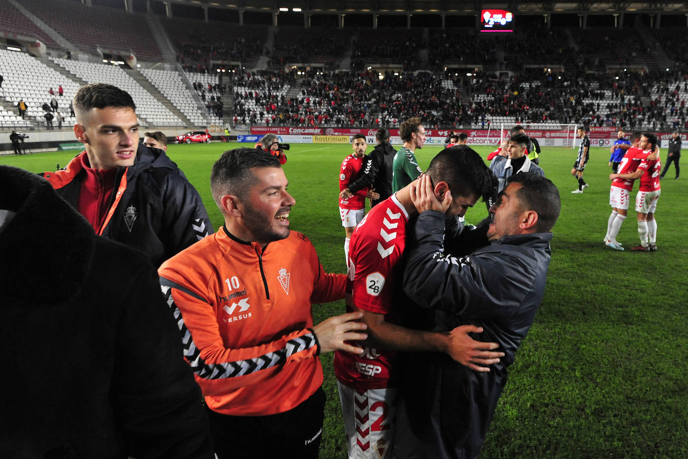
[[[325,394],[321,352],[363,349],[358,312],[313,325],[311,304],[344,297],[308,237],[289,230],[294,199],[277,157],[226,151],[211,190],[224,216],[214,235],[158,273],[184,335],[222,459],[317,458]]]

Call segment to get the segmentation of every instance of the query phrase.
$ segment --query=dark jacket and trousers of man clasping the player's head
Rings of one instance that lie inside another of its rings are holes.
[[[477,325],[484,331],[473,338],[499,343],[505,355],[481,373],[447,354],[405,354],[393,457],[473,458],[544,294],[552,234],[504,236],[453,257],[442,250],[443,213],[422,213],[414,232],[404,291],[416,304],[403,310],[403,323],[433,331]]]

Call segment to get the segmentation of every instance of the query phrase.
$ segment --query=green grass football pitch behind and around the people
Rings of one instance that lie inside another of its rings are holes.
[[[215,229],[222,219],[210,194],[211,166],[235,146],[169,147],[169,156],[202,195]],[[491,150],[476,149],[483,157]],[[439,150],[416,151],[420,166],[427,167]],[[296,199],[292,229],[312,239],[326,270],[339,273],[345,264],[338,168],[350,151],[350,145],[294,144],[284,166]],[[74,154],[2,156],[0,163],[54,171]],[[617,252],[602,242],[610,215],[609,154],[592,149],[585,170],[590,187],[572,195],[576,152],[544,148],[540,165],[559,187],[562,204],[548,283],[533,328],[510,367],[482,458],[688,457],[688,179],[662,181],[658,251]],[[485,213],[480,203],[466,218],[478,222]],[[638,244],[632,209],[618,239],[626,247]],[[343,301],[316,305],[314,317],[317,322],[343,310]],[[345,458],[332,354],[322,362],[328,401],[321,457]]]

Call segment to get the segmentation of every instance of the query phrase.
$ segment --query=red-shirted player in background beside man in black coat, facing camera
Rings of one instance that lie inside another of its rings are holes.
[[[368,144],[365,142],[363,134],[356,134],[352,145],[354,153],[350,154],[342,161],[339,171],[339,191],[349,188],[349,182],[354,180],[363,167],[365,149]],[[349,198],[339,196],[339,216],[344,226],[344,259],[349,263],[349,242],[351,235],[354,234],[356,225],[363,220],[365,215],[365,198],[378,199],[380,195],[373,190],[364,188],[350,195]]]

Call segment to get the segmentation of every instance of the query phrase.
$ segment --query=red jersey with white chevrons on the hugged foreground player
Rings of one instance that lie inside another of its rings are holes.
[[[347,310],[351,306],[394,322],[391,312],[395,280],[401,275],[399,261],[406,245],[409,215],[391,195],[373,207],[358,224],[349,244]],[[341,383],[356,389],[380,389],[394,385],[395,352],[365,348],[361,356],[335,352],[334,374]]]

